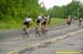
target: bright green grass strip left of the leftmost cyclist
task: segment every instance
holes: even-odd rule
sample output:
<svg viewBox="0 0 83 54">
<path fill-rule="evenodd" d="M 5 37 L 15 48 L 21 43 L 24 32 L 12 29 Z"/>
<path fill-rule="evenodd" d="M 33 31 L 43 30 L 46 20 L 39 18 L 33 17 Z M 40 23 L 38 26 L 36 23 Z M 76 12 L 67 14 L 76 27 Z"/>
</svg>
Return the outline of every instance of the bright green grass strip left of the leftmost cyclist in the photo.
<svg viewBox="0 0 83 54">
<path fill-rule="evenodd" d="M 9 22 L 0 22 L 0 29 L 20 29 L 22 28 L 22 22 L 9 21 Z"/>
</svg>

